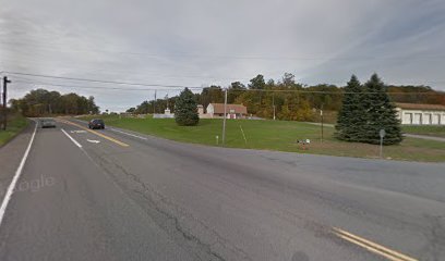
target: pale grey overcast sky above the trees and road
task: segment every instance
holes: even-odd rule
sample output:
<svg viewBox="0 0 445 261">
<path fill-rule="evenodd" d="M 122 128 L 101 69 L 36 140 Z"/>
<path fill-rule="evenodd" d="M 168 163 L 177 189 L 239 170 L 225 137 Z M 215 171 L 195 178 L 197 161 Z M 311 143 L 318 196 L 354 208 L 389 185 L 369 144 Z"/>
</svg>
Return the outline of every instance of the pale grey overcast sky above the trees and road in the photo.
<svg viewBox="0 0 445 261">
<path fill-rule="evenodd" d="M 445 90 L 443 0 L 0 0 L 0 71 L 159 85 L 227 86 L 256 74 Z M 36 84 L 141 88 L 8 74 Z M 154 91 L 46 86 L 123 111 Z M 153 87 L 161 88 L 161 87 Z M 177 91 L 158 91 L 158 97 Z"/>
</svg>

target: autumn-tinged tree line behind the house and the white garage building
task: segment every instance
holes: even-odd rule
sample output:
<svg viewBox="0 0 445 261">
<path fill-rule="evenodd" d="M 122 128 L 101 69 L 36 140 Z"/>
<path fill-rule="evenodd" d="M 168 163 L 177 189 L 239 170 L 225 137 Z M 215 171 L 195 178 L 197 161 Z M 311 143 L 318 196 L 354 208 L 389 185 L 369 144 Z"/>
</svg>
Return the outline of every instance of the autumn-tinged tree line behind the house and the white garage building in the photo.
<svg viewBox="0 0 445 261">
<path fill-rule="evenodd" d="M 394 102 L 408 103 L 435 103 L 445 105 L 445 94 L 435 91 L 429 86 L 386 86 L 389 98 Z M 265 80 L 258 74 L 245 86 L 233 82 L 228 88 L 228 103 L 244 104 L 250 114 L 278 120 L 313 121 L 317 117 L 320 109 L 338 112 L 346 87 L 321 84 L 306 86 L 296 83 L 294 75 L 285 73 L 280 80 Z M 410 94 L 402 94 L 410 92 Z M 416 94 L 412 94 L 416 92 Z M 224 88 L 212 85 L 194 94 L 195 101 L 204 108 L 211 102 L 224 102 Z M 130 113 L 163 113 L 167 105 L 175 110 L 178 97 L 146 100 L 135 108 L 128 110 Z"/>
</svg>

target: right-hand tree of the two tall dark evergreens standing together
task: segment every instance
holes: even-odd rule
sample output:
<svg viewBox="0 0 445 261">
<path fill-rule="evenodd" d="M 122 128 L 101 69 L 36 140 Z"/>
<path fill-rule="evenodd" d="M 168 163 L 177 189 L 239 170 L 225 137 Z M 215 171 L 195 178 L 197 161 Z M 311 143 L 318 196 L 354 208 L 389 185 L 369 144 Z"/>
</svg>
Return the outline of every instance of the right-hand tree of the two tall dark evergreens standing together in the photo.
<svg viewBox="0 0 445 261">
<path fill-rule="evenodd" d="M 402 140 L 400 121 L 397 111 L 390 101 L 385 84 L 377 74 L 373 74 L 364 85 L 366 95 L 366 124 L 363 133 L 363 142 L 380 144 L 380 129 L 385 129 L 384 145 L 399 144 Z"/>
</svg>

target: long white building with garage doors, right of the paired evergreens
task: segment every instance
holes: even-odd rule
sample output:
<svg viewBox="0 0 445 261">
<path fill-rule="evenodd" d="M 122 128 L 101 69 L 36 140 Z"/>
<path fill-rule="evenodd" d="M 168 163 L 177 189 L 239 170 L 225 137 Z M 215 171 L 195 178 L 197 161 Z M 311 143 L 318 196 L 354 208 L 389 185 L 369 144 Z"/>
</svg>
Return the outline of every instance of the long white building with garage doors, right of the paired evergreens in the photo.
<svg viewBox="0 0 445 261">
<path fill-rule="evenodd" d="M 396 103 L 404 125 L 445 125 L 445 105 Z"/>
</svg>

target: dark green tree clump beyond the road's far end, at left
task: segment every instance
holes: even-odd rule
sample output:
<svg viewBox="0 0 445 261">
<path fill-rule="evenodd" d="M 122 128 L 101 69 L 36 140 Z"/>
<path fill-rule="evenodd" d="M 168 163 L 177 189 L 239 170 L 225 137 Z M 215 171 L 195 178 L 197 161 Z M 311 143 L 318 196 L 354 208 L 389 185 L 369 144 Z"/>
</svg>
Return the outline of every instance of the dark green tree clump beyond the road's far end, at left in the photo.
<svg viewBox="0 0 445 261">
<path fill-rule="evenodd" d="M 12 111 L 19 111 L 25 116 L 99 113 L 93 96 L 86 98 L 74 92 L 61 95 L 58 91 L 35 89 L 23 98 L 11 99 L 9 102 Z"/>
</svg>

